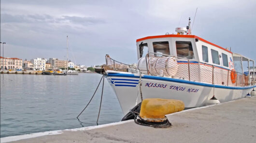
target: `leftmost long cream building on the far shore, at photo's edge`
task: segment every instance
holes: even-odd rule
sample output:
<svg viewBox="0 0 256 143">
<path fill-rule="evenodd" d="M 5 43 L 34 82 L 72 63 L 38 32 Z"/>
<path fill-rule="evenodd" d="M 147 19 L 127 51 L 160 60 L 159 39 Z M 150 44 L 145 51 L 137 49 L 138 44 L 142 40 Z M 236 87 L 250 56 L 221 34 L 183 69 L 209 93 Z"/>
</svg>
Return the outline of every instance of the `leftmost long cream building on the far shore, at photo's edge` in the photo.
<svg viewBox="0 0 256 143">
<path fill-rule="evenodd" d="M 22 59 L 0 57 L 0 68 L 6 70 L 22 69 Z"/>
</svg>

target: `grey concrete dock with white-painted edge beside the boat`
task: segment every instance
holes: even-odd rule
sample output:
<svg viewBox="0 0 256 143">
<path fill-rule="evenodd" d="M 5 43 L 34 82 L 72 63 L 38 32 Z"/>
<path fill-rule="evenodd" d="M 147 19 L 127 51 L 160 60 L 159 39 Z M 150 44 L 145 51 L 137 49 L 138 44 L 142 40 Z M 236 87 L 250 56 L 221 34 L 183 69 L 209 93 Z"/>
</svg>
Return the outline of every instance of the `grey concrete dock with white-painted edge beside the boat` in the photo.
<svg viewBox="0 0 256 143">
<path fill-rule="evenodd" d="M 171 128 L 167 129 L 140 126 L 129 120 L 95 127 L 49 131 L 42 136 L 35 133 L 5 137 L 1 138 L 1 142 L 256 143 L 256 96 L 188 109 L 167 117 L 172 123 Z"/>
</svg>

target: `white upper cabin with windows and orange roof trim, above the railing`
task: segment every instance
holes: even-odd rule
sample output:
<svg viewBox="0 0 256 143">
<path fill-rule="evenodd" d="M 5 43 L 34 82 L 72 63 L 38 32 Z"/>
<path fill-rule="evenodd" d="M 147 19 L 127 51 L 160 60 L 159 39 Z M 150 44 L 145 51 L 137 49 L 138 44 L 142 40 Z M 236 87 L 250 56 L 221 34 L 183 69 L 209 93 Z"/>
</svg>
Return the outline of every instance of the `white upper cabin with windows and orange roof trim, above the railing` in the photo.
<svg viewBox="0 0 256 143">
<path fill-rule="evenodd" d="M 213 64 L 229 70 L 234 69 L 232 52 L 198 36 L 163 35 L 137 39 L 138 60 L 147 53 L 154 57 L 171 55 L 178 58 Z M 162 55 L 164 54 L 164 55 Z"/>
</svg>

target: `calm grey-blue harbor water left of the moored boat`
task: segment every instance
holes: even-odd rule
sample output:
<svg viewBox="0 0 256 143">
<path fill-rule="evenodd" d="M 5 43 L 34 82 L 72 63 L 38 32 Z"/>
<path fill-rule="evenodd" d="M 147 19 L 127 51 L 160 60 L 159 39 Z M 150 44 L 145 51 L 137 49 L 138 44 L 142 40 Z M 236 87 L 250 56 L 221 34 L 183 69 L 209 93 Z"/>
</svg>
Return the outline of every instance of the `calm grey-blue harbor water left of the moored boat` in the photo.
<svg viewBox="0 0 256 143">
<path fill-rule="evenodd" d="M 101 75 L 0 74 L 0 137 L 96 125 L 102 84 L 90 105 Z M 105 80 L 99 124 L 123 117 L 114 90 Z"/>
</svg>

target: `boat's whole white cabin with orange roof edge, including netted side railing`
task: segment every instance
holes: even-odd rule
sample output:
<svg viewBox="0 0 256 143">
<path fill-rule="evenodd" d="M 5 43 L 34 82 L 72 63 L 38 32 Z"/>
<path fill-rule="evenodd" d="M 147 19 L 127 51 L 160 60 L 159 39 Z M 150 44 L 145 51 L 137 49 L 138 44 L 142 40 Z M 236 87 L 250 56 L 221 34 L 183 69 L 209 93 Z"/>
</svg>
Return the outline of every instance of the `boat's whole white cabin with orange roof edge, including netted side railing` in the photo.
<svg viewBox="0 0 256 143">
<path fill-rule="evenodd" d="M 244 74 L 250 60 L 194 35 L 137 39 L 138 67 L 144 74 L 226 86 L 255 81 Z M 147 58 L 146 58 L 147 57 Z"/>
</svg>

